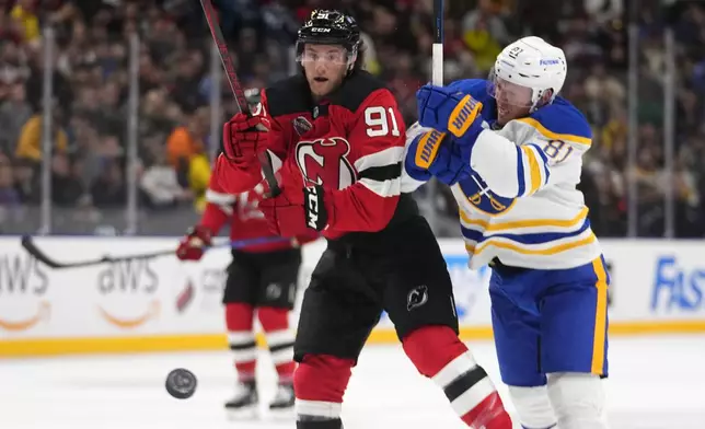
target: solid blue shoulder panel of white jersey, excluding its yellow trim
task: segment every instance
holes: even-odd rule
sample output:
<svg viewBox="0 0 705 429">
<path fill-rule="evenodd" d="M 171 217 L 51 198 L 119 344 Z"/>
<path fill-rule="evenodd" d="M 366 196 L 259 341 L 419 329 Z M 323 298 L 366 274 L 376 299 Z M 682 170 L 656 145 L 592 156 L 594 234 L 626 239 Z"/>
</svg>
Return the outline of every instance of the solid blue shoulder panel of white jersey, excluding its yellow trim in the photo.
<svg viewBox="0 0 705 429">
<path fill-rule="evenodd" d="M 529 117 L 548 131 L 592 139 L 592 129 L 582 112 L 560 96 L 557 96 L 552 104 L 539 108 Z"/>
</svg>

